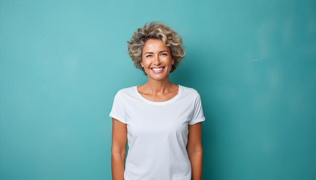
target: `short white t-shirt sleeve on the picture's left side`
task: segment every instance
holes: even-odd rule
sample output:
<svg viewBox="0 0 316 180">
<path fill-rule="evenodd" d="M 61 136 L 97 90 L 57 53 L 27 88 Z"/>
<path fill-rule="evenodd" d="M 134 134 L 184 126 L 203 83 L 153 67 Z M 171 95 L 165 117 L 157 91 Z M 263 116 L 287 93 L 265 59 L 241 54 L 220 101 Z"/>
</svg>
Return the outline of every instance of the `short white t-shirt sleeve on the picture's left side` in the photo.
<svg viewBox="0 0 316 180">
<path fill-rule="evenodd" d="M 123 109 L 123 104 L 122 104 L 120 92 L 118 92 L 114 97 L 112 110 L 111 110 L 109 116 L 121 121 L 124 124 L 126 124 L 126 119 L 124 116 L 124 109 Z"/>
</svg>

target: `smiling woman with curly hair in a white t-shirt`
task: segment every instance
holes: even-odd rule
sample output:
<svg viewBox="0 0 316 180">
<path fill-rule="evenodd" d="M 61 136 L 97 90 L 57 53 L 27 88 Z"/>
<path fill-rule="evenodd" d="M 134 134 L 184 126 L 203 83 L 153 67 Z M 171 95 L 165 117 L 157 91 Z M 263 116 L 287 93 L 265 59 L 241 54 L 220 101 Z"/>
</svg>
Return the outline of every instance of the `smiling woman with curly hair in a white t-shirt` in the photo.
<svg viewBox="0 0 316 180">
<path fill-rule="evenodd" d="M 182 38 L 162 23 L 147 23 L 133 34 L 128 52 L 148 81 L 115 95 L 110 113 L 112 178 L 200 180 L 205 120 L 200 95 L 169 81 L 169 72 L 184 59 Z"/>
</svg>

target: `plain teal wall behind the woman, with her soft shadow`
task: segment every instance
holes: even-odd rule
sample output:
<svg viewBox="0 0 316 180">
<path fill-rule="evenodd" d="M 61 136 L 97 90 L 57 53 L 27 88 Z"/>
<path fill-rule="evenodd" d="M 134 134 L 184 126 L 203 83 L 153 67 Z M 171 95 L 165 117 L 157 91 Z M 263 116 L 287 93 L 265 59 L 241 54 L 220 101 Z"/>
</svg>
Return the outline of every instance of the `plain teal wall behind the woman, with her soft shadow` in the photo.
<svg viewBox="0 0 316 180">
<path fill-rule="evenodd" d="M 0 1 L 0 179 L 111 179 L 127 42 L 183 37 L 170 80 L 201 96 L 202 179 L 316 179 L 315 1 Z"/>
</svg>

